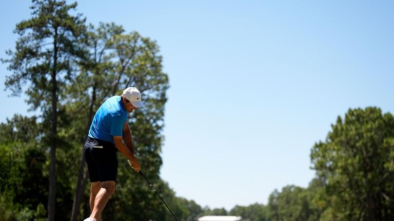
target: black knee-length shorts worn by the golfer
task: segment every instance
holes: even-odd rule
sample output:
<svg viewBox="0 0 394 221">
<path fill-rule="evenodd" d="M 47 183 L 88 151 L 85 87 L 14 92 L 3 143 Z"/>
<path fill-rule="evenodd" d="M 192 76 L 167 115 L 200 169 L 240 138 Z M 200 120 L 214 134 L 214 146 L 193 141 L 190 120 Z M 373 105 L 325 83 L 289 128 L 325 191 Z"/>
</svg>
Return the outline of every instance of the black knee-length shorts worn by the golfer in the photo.
<svg viewBox="0 0 394 221">
<path fill-rule="evenodd" d="M 112 142 L 88 137 L 84 155 L 88 164 L 90 182 L 116 181 L 117 149 Z"/>
</svg>

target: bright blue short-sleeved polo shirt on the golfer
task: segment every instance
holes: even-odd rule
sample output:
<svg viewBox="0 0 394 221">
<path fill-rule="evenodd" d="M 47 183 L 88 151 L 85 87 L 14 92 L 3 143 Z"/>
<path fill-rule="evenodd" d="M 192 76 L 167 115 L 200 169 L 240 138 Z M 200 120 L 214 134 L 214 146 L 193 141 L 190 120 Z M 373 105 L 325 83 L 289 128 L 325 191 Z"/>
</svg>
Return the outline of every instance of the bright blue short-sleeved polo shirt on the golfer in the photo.
<svg viewBox="0 0 394 221">
<path fill-rule="evenodd" d="M 122 97 L 110 97 L 94 115 L 88 136 L 114 143 L 113 136 L 122 136 L 126 120 L 127 111 L 123 106 Z"/>
</svg>

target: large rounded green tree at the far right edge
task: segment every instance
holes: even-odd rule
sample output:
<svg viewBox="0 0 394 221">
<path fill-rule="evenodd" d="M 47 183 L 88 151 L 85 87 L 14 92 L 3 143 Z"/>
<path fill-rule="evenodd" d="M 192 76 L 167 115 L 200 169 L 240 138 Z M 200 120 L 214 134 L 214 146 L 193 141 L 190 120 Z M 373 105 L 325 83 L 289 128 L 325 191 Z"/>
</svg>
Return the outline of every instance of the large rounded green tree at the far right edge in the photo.
<svg viewBox="0 0 394 221">
<path fill-rule="evenodd" d="M 391 220 L 394 216 L 394 117 L 381 109 L 349 109 L 311 151 L 325 182 L 323 219 Z"/>
</svg>

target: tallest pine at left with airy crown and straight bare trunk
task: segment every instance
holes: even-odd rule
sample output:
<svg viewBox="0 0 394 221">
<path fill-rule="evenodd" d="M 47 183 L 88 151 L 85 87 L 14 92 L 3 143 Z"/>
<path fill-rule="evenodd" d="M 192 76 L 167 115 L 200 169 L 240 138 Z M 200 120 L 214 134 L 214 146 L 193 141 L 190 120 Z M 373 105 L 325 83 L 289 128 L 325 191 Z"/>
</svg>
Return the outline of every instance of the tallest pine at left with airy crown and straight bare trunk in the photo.
<svg viewBox="0 0 394 221">
<path fill-rule="evenodd" d="M 7 88 L 18 95 L 28 81 L 28 103 L 32 109 L 40 107 L 44 121 L 51 123 L 51 130 L 46 133 L 51 159 L 48 197 L 51 221 L 55 218 L 58 90 L 70 77 L 73 59 L 84 54 L 78 47 L 78 38 L 83 36 L 85 20 L 80 14 L 68 13 L 75 7 L 76 3 L 67 5 L 66 1 L 33 0 L 32 18 L 16 25 L 15 32 L 20 35 L 16 51 L 8 51 L 11 58 L 3 61 L 14 72 L 7 77 Z"/>
</svg>

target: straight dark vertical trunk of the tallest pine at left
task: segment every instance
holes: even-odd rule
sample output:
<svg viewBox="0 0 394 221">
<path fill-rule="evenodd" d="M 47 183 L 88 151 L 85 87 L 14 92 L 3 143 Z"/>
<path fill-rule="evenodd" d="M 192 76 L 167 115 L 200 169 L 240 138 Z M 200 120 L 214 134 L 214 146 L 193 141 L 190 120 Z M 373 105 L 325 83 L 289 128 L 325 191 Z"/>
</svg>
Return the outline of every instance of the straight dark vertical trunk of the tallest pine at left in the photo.
<svg viewBox="0 0 394 221">
<path fill-rule="evenodd" d="M 52 69 L 52 131 L 51 131 L 51 169 L 49 173 L 49 197 L 48 197 L 48 220 L 55 219 L 55 202 L 56 202 L 56 138 L 57 138 L 57 81 L 56 81 L 56 64 L 57 64 L 57 28 L 53 41 L 53 69 Z"/>
</svg>

